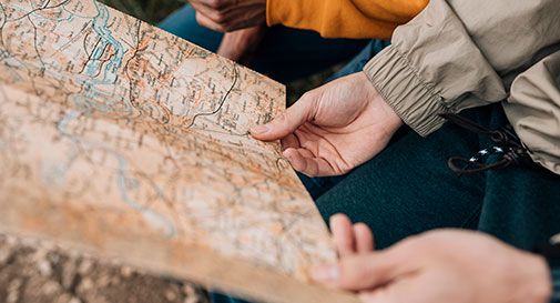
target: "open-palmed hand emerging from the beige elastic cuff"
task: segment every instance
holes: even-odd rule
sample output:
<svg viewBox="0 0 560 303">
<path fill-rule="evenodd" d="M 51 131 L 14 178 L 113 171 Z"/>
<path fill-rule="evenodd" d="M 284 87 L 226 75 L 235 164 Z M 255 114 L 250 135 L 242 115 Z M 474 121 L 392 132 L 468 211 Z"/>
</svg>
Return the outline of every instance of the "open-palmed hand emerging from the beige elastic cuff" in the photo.
<svg viewBox="0 0 560 303">
<path fill-rule="evenodd" d="M 339 175 L 374 158 L 403 125 L 366 74 L 358 72 L 309 91 L 251 134 L 281 140 L 284 156 L 309 176 Z"/>
</svg>

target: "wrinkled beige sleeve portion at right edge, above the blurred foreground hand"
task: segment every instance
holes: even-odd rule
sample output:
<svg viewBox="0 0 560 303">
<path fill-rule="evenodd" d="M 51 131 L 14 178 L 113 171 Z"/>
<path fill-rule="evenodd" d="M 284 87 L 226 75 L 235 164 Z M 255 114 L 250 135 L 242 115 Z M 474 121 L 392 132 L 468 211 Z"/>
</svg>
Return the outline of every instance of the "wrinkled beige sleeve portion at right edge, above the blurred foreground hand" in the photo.
<svg viewBox="0 0 560 303">
<path fill-rule="evenodd" d="M 560 174 L 560 52 L 520 74 L 503 109 L 532 160 Z"/>
</svg>

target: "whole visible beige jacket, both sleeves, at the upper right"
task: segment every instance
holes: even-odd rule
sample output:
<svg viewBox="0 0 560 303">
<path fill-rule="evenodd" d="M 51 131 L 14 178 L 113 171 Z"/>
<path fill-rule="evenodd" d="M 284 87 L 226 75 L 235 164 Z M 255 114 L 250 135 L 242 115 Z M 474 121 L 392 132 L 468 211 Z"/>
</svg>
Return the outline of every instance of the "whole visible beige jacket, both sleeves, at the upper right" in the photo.
<svg viewBox="0 0 560 303">
<path fill-rule="evenodd" d="M 439 112 L 502 102 L 518 135 L 560 174 L 560 0 L 431 0 L 365 67 L 421 135 Z"/>
</svg>

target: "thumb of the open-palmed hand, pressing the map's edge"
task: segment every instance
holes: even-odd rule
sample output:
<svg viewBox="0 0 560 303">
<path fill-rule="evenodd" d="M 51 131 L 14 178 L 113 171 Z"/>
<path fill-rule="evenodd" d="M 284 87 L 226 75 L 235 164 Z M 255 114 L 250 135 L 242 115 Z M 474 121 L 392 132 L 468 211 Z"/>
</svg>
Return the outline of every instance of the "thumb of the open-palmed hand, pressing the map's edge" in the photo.
<svg viewBox="0 0 560 303">
<path fill-rule="evenodd" d="M 254 127 L 251 134 L 262 141 L 274 141 L 293 133 L 315 115 L 316 98 L 304 94 L 294 105 L 277 115 L 273 121 Z"/>
</svg>

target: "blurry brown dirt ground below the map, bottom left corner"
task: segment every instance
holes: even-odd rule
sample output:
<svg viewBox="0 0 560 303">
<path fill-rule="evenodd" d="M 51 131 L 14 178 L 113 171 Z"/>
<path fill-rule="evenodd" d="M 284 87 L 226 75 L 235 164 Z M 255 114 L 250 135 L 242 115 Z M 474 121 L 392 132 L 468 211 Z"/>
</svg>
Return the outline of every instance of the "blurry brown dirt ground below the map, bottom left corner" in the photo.
<svg viewBox="0 0 560 303">
<path fill-rule="evenodd" d="M 0 234 L 0 303 L 203 303 L 189 282 Z"/>
</svg>

